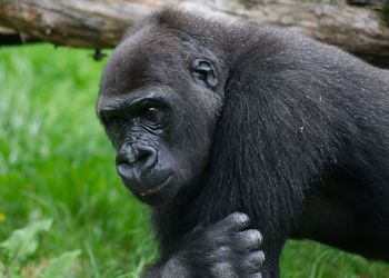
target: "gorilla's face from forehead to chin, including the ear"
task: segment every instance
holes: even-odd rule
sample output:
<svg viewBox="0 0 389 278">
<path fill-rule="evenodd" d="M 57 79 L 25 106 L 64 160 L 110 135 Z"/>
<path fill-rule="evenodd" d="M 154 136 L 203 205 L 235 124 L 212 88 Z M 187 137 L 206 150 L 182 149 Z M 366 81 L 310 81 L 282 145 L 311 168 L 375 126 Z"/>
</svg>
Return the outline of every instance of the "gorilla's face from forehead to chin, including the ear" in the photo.
<svg viewBox="0 0 389 278">
<path fill-rule="evenodd" d="M 194 188 L 207 166 L 222 103 L 217 64 L 170 34 L 142 30 L 113 52 L 98 116 L 117 150 L 123 183 L 161 205 Z M 190 53 L 190 54 L 189 54 Z"/>
</svg>

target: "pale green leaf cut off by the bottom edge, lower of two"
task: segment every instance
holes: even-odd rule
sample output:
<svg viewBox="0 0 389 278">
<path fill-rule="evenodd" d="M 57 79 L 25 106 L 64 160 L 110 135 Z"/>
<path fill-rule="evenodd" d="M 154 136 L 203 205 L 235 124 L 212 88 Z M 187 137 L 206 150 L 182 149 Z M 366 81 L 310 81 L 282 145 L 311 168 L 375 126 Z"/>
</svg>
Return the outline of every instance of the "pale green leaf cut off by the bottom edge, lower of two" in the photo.
<svg viewBox="0 0 389 278">
<path fill-rule="evenodd" d="M 42 278 L 74 277 L 74 262 L 81 250 L 64 252 L 50 260 L 50 264 L 41 272 Z"/>
</svg>

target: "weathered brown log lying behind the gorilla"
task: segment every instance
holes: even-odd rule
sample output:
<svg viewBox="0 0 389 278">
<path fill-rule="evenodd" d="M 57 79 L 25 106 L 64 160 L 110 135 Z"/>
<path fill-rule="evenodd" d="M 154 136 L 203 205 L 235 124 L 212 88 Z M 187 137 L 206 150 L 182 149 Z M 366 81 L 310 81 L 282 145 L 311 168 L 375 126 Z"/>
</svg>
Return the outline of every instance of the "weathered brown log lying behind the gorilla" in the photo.
<svg viewBox="0 0 389 278">
<path fill-rule="evenodd" d="M 0 26 L 56 44 L 112 48 L 162 0 L 0 0 Z M 372 8 L 345 0 L 174 1 L 210 16 L 297 29 L 375 63 L 389 66 L 389 28 Z M 1 42 L 0 42 L 1 43 Z"/>
</svg>

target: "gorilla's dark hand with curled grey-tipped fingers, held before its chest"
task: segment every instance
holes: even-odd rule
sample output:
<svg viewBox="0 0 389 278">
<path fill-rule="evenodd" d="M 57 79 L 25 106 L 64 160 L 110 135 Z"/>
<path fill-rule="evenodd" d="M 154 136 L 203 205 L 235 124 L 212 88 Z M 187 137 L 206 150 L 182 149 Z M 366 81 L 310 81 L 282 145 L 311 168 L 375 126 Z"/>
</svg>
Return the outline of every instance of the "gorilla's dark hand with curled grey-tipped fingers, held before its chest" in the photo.
<svg viewBox="0 0 389 278">
<path fill-rule="evenodd" d="M 209 227 L 196 228 L 146 277 L 260 277 L 262 236 L 248 229 L 249 224 L 247 215 L 235 212 Z"/>
</svg>

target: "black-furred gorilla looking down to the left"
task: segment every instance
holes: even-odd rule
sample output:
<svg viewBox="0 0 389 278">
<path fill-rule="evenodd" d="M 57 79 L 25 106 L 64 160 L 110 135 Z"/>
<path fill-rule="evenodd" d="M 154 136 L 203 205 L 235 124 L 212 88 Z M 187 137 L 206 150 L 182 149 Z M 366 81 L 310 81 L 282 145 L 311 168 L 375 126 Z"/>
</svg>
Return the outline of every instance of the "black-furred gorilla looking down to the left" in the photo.
<svg viewBox="0 0 389 278">
<path fill-rule="evenodd" d="M 97 113 L 151 208 L 160 259 L 144 277 L 279 277 L 288 238 L 389 260 L 388 71 L 164 8 L 113 51 Z"/>
</svg>

